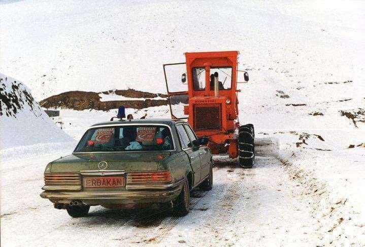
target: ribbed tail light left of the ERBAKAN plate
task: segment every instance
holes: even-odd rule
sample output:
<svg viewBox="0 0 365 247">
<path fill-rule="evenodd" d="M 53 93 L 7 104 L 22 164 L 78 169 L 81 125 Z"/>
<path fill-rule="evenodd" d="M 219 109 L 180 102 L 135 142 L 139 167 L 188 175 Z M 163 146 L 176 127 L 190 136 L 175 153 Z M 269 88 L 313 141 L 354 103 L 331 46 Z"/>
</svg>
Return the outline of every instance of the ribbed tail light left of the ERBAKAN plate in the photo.
<svg viewBox="0 0 365 247">
<path fill-rule="evenodd" d="M 45 173 L 45 185 L 81 185 L 81 175 L 78 173 Z"/>
</svg>

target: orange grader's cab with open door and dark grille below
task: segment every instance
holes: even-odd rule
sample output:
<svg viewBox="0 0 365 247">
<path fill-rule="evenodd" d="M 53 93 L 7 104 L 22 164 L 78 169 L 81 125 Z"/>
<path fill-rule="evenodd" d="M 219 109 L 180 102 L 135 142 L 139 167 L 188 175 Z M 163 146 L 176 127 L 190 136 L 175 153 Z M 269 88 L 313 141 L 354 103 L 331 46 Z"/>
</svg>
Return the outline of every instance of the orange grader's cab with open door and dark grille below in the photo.
<svg viewBox="0 0 365 247">
<path fill-rule="evenodd" d="M 238 115 L 237 79 L 241 75 L 248 80 L 247 72 L 237 70 L 238 54 L 185 53 L 186 63 L 164 64 L 172 117 L 188 119 L 198 136 L 233 131 Z"/>
</svg>

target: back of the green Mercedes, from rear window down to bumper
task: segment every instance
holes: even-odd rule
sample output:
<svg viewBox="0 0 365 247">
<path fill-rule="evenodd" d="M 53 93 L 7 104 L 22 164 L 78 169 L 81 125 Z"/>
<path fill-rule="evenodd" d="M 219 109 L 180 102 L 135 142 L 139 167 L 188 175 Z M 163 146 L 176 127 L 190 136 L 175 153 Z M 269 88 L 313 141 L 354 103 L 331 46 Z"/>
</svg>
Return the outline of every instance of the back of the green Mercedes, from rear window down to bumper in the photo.
<svg viewBox="0 0 365 247">
<path fill-rule="evenodd" d="M 48 164 L 41 197 L 51 200 L 57 209 L 75 205 L 130 208 L 171 202 L 184 182 L 169 170 L 175 147 L 168 125 L 93 127 L 72 155 Z"/>
</svg>

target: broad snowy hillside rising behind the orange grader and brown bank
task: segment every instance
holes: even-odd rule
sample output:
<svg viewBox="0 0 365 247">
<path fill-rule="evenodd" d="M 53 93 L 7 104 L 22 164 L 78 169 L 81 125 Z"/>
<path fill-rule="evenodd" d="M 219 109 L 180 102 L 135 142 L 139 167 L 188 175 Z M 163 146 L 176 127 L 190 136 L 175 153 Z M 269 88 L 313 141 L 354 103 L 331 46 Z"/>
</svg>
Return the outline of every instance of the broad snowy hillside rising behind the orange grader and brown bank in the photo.
<svg viewBox="0 0 365 247">
<path fill-rule="evenodd" d="M 161 93 L 162 64 L 193 51 L 240 51 L 253 88 L 353 80 L 360 89 L 365 78 L 360 1 L 6 3 L 1 69 L 38 101 L 75 90 Z"/>
</svg>

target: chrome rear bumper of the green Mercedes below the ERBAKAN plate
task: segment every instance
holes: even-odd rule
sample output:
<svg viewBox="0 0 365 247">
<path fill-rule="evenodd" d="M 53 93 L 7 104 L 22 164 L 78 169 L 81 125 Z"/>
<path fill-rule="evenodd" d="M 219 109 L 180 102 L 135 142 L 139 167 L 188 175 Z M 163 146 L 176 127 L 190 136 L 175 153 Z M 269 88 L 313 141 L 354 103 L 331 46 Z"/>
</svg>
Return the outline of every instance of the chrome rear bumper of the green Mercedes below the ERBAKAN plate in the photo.
<svg viewBox="0 0 365 247">
<path fill-rule="evenodd" d="M 86 204 L 165 203 L 180 194 L 183 182 L 184 180 L 165 185 L 127 185 L 125 190 L 46 190 L 41 193 L 41 197 L 53 203 L 69 203 L 72 200 L 80 200 Z"/>
</svg>

